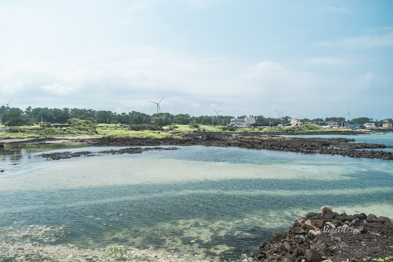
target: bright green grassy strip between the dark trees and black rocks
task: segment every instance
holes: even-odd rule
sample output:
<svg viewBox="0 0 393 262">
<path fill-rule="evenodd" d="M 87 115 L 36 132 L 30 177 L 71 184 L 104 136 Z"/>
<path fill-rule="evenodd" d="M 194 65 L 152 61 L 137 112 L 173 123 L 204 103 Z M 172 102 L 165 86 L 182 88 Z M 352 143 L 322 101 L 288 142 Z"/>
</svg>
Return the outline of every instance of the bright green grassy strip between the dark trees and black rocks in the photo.
<svg viewBox="0 0 393 262">
<path fill-rule="evenodd" d="M 146 130 L 145 130 L 146 128 Z M 132 130 L 132 129 L 137 129 Z M 153 129 L 153 130 L 149 130 Z M 30 126 L 18 126 L 10 127 L 10 130 L 0 130 L 0 138 L 39 138 L 39 137 L 75 137 L 75 136 L 90 136 L 90 137 L 141 137 L 141 138 L 163 138 L 171 137 L 178 132 L 222 132 L 222 133 L 275 133 L 275 132 L 318 132 L 318 131 L 329 131 L 339 133 L 341 131 L 348 131 L 350 129 L 326 129 L 316 124 L 306 122 L 302 126 L 295 127 L 273 127 L 273 128 L 227 128 L 225 126 L 203 126 L 192 127 L 190 125 L 167 125 L 158 127 L 145 126 L 145 125 L 134 125 L 134 126 L 122 126 L 119 124 L 97 124 L 92 129 L 78 129 L 76 127 L 67 128 L 46 128 L 40 129 L 38 127 L 32 128 Z M 363 129 L 365 130 L 365 129 Z M 384 130 L 378 129 L 379 132 Z"/>
</svg>

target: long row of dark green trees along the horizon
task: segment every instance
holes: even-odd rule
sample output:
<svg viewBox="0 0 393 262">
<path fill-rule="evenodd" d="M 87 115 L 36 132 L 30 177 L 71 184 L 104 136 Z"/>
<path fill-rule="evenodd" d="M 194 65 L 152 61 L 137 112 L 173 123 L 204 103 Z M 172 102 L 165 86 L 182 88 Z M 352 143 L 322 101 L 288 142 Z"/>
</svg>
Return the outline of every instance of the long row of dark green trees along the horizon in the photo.
<svg viewBox="0 0 393 262">
<path fill-rule="evenodd" d="M 28 107 L 25 110 L 17 107 L 0 107 L 1 120 L 4 125 L 17 126 L 17 125 L 31 125 L 37 124 L 37 122 L 50 122 L 51 124 L 71 124 L 72 119 L 88 120 L 92 123 L 99 124 L 124 124 L 124 125 L 140 125 L 140 124 L 151 124 L 151 125 L 172 125 L 172 124 L 200 124 L 200 125 L 227 125 L 230 124 L 231 118 L 235 116 L 191 116 L 189 114 L 170 114 L 170 113 L 159 113 L 159 114 L 145 114 L 137 111 L 131 111 L 129 113 L 116 113 L 112 111 L 93 109 L 78 109 L 78 108 L 48 108 L 48 107 Z M 280 123 L 285 124 L 290 122 L 290 116 L 283 116 L 281 118 L 269 118 L 263 115 L 259 116 L 237 116 L 236 118 L 244 117 L 255 117 L 255 123 Z M 301 122 L 324 122 L 322 119 L 314 118 L 301 119 Z M 325 118 L 325 121 L 336 121 L 338 123 L 347 122 L 343 117 L 330 117 Z M 349 121 L 349 124 L 364 124 L 364 123 L 376 123 L 383 124 L 393 120 L 387 118 L 384 120 L 373 120 L 373 118 L 355 118 Z"/>
</svg>

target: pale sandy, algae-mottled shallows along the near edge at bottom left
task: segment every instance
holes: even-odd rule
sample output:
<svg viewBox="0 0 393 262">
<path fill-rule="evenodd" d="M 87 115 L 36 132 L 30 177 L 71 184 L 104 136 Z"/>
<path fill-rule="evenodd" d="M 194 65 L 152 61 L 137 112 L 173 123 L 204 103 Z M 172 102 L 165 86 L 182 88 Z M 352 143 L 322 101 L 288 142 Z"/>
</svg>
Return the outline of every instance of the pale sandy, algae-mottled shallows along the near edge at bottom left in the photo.
<svg viewBox="0 0 393 262">
<path fill-rule="evenodd" d="M 153 247 L 138 249 L 125 245 L 107 245 L 97 248 L 81 248 L 72 244 L 56 244 L 68 231 L 64 226 L 14 225 L 0 228 L 0 261 L 20 262 L 208 262 L 197 254 L 178 254 L 174 250 L 155 250 Z M 251 261 L 243 254 L 243 262 Z"/>
</svg>

